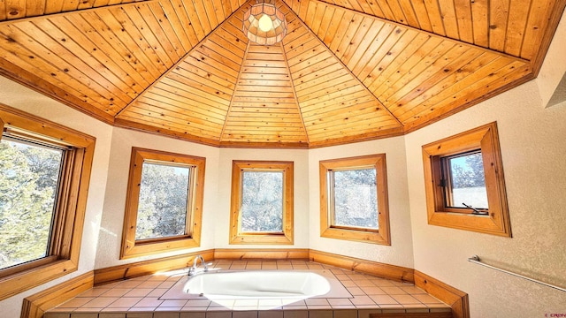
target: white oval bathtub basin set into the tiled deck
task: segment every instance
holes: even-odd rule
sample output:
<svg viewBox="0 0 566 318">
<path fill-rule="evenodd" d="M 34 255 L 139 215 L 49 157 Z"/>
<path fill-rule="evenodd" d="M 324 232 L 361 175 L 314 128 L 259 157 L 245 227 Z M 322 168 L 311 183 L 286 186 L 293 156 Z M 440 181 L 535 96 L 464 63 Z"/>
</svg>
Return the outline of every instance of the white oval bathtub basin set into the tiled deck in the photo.
<svg viewBox="0 0 566 318">
<path fill-rule="evenodd" d="M 212 272 L 190 277 L 182 291 L 216 299 L 306 299 L 330 292 L 317 273 L 291 270 Z"/>
</svg>

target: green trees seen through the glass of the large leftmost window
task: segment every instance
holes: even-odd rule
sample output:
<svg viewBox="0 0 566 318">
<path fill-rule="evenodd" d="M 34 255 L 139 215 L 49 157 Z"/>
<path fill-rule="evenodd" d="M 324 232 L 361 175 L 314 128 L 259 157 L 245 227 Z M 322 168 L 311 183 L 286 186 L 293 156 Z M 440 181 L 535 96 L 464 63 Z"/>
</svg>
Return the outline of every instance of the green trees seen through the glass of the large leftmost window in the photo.
<svg viewBox="0 0 566 318">
<path fill-rule="evenodd" d="M 63 150 L 0 141 L 0 269 L 50 253 Z"/>
</svg>

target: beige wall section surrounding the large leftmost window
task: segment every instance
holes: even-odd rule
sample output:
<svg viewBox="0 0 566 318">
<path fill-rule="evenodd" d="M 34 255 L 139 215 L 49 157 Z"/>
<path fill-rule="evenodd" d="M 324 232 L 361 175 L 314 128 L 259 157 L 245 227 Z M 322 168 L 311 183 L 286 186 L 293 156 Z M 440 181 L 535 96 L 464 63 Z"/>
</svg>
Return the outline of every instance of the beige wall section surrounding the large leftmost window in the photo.
<svg viewBox="0 0 566 318">
<path fill-rule="evenodd" d="M 48 284 L 42 284 L 9 299 L 0 301 L 0 317 L 16 318 L 19 317 L 22 300 L 28 295 L 40 292 L 50 286 L 60 284 L 69 278 L 80 276 L 94 269 L 98 229 L 103 216 L 104 189 L 110 157 L 112 127 L 4 77 L 0 77 L 0 102 L 96 137 L 95 157 L 88 189 L 87 211 L 80 247 L 79 269 Z"/>
</svg>

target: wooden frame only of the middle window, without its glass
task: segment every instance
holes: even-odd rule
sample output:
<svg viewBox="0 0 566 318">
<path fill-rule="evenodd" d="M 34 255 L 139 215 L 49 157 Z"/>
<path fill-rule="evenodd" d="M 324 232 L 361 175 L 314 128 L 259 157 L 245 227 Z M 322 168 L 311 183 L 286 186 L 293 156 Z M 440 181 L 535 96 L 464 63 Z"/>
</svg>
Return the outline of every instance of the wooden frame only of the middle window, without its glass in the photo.
<svg viewBox="0 0 566 318">
<path fill-rule="evenodd" d="M 241 193 L 244 171 L 283 172 L 283 232 L 249 233 L 241 229 Z M 230 213 L 230 244 L 292 245 L 294 244 L 293 223 L 294 163 L 272 161 L 238 161 L 232 163 L 232 199 Z"/>
</svg>

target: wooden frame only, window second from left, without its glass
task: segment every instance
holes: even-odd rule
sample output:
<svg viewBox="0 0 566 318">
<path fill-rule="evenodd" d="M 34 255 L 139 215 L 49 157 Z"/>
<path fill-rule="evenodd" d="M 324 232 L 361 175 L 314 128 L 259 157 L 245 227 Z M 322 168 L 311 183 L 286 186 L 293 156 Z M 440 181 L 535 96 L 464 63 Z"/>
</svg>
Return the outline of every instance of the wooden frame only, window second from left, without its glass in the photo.
<svg viewBox="0 0 566 318">
<path fill-rule="evenodd" d="M 189 187 L 193 192 L 188 193 L 189 201 L 191 202 L 187 204 L 187 209 L 190 209 L 187 211 L 190 214 L 187 216 L 187 220 L 190 220 L 190 222 L 187 222 L 188 230 L 185 235 L 157 239 L 135 239 L 144 161 L 195 167 L 195 176 L 189 179 Z M 199 156 L 173 154 L 145 148 L 132 148 L 120 260 L 201 246 L 205 164 L 206 158 Z"/>
</svg>

